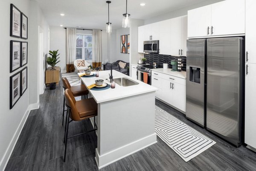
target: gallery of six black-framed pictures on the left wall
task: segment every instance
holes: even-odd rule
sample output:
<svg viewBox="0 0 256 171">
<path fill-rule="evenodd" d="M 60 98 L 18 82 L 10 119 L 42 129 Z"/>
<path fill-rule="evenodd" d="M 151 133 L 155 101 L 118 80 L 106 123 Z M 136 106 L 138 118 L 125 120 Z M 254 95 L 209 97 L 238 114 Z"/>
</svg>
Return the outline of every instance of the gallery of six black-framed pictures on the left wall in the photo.
<svg viewBox="0 0 256 171">
<path fill-rule="evenodd" d="M 10 8 L 10 36 L 28 39 L 28 17 L 15 5 Z M 28 87 L 28 42 L 10 41 L 10 72 L 20 71 L 10 76 L 10 109 L 14 107 Z"/>
</svg>

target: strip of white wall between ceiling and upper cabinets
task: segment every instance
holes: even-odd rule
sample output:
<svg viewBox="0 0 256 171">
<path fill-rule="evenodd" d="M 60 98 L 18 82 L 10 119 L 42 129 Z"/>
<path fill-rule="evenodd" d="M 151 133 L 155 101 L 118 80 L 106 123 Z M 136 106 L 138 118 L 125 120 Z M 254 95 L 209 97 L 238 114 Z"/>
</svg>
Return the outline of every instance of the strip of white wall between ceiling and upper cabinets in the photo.
<svg viewBox="0 0 256 171">
<path fill-rule="evenodd" d="M 199 7 L 202 7 L 202 6 L 207 6 L 207 5 L 210 5 L 212 3 L 218 3 L 220 1 L 223 1 L 223 0 L 206 0 L 202 3 L 197 3 L 195 5 L 188 6 L 186 8 L 177 9 L 175 11 L 172 11 L 172 12 L 169 12 L 169 13 L 166 13 L 166 14 L 162 14 L 162 15 L 158 15 L 156 17 L 148 18 L 148 19 L 145 20 L 144 24 L 156 23 L 158 21 L 168 20 L 168 19 L 171 19 L 171 18 L 187 15 L 188 10 L 199 8 Z"/>
</svg>

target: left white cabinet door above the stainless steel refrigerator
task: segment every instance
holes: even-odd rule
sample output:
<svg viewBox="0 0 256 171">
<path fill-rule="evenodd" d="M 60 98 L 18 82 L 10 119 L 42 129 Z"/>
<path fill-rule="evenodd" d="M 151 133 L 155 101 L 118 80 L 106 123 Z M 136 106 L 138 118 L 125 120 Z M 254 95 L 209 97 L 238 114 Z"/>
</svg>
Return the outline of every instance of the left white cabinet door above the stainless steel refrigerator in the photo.
<svg viewBox="0 0 256 171">
<path fill-rule="evenodd" d="M 210 34 L 212 6 L 203 6 L 188 11 L 188 37 Z"/>
</svg>

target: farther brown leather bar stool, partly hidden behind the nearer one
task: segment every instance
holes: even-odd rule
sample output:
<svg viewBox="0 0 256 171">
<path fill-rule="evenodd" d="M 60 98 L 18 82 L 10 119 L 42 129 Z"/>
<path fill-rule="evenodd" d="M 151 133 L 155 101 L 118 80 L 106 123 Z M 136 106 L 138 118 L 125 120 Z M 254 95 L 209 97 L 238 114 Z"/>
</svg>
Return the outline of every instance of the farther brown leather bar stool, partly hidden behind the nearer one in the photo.
<svg viewBox="0 0 256 171">
<path fill-rule="evenodd" d="M 62 78 L 62 83 L 63 83 L 63 88 L 64 90 L 70 89 L 71 92 L 73 93 L 73 96 L 84 96 L 84 99 L 88 99 L 88 89 L 85 87 L 84 84 L 82 85 L 77 85 L 77 86 L 70 86 L 68 80 L 66 77 Z M 65 98 L 63 98 L 63 111 L 62 111 L 62 125 L 64 122 L 64 112 L 67 111 L 65 110 Z"/>
</svg>

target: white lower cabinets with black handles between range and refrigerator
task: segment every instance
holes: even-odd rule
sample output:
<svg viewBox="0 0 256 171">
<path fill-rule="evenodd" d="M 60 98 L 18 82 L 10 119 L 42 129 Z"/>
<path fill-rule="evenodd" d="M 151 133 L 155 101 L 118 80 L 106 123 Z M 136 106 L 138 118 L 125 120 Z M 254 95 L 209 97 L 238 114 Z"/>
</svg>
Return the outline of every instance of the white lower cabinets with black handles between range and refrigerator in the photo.
<svg viewBox="0 0 256 171">
<path fill-rule="evenodd" d="M 157 76 L 155 76 L 157 75 Z M 186 80 L 152 71 L 151 85 L 158 88 L 156 97 L 186 112 Z"/>
</svg>

